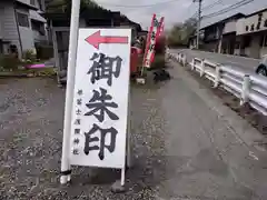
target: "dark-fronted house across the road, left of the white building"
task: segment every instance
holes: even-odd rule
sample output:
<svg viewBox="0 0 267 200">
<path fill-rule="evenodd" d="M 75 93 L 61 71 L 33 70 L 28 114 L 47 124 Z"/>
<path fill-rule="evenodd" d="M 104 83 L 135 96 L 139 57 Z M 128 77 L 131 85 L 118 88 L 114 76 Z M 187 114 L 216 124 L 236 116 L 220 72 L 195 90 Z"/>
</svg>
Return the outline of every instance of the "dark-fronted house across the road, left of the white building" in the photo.
<svg viewBox="0 0 267 200">
<path fill-rule="evenodd" d="M 204 31 L 202 48 L 212 52 L 234 54 L 236 23 L 238 19 L 244 17 L 244 13 L 236 13 L 226 19 L 202 27 L 200 29 Z"/>
</svg>

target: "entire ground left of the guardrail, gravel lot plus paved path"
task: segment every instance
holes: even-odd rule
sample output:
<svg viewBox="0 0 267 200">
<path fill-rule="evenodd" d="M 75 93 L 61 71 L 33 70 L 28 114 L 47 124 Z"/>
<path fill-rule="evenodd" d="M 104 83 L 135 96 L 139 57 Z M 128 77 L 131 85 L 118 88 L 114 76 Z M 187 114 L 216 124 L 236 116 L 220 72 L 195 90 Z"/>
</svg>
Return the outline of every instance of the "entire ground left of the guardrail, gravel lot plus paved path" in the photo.
<svg viewBox="0 0 267 200">
<path fill-rule="evenodd" d="M 174 63 L 172 63 L 174 64 Z M 175 66 L 172 79 L 131 84 L 134 168 L 73 167 L 59 184 L 65 89 L 52 79 L 0 79 L 0 199 L 266 200 L 264 138 Z"/>
</svg>

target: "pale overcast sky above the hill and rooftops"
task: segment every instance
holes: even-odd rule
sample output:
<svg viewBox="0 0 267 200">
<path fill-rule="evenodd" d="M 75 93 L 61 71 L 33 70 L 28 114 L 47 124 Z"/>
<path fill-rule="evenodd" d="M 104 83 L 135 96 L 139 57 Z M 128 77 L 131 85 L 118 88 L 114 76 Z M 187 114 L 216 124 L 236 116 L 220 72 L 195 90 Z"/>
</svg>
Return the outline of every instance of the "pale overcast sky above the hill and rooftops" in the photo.
<svg viewBox="0 0 267 200">
<path fill-rule="evenodd" d="M 220 0 L 220 3 L 205 9 L 205 7 L 217 1 L 218 0 L 202 0 L 204 14 L 216 12 L 240 0 Z M 96 0 L 96 2 L 109 10 L 120 11 L 132 21 L 140 23 L 142 29 L 147 29 L 150 26 L 154 13 L 165 17 L 166 28 L 170 28 L 172 24 L 182 22 L 194 16 L 198 8 L 198 3 L 192 3 L 192 0 Z M 254 0 L 238 9 L 202 20 L 201 26 L 216 22 L 237 12 L 244 12 L 246 14 L 264 8 L 267 8 L 267 0 Z"/>
</svg>

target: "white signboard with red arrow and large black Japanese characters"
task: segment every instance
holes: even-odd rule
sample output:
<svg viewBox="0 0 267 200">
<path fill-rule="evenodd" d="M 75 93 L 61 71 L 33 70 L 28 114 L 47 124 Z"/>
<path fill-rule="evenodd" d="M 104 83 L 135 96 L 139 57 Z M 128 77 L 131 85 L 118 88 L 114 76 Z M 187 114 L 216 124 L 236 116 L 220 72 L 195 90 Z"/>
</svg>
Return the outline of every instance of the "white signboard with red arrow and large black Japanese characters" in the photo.
<svg viewBox="0 0 267 200">
<path fill-rule="evenodd" d="M 130 29 L 80 29 L 70 163 L 125 168 Z"/>
</svg>

